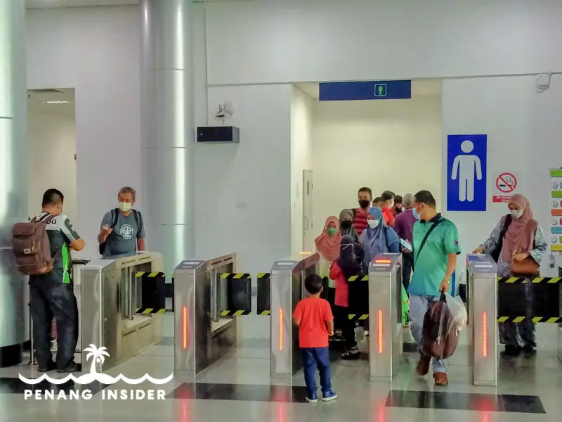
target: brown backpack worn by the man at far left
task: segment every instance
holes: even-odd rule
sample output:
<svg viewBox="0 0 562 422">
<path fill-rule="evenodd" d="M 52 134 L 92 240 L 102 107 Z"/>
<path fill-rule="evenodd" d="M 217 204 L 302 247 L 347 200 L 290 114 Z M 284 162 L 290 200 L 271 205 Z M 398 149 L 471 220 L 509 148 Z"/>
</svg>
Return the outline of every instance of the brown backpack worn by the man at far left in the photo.
<svg viewBox="0 0 562 422">
<path fill-rule="evenodd" d="M 51 243 L 48 241 L 47 224 L 55 215 L 48 214 L 41 219 L 34 217 L 28 223 L 16 223 L 12 229 L 12 249 L 15 264 L 25 276 L 46 274 L 53 269 Z"/>
</svg>

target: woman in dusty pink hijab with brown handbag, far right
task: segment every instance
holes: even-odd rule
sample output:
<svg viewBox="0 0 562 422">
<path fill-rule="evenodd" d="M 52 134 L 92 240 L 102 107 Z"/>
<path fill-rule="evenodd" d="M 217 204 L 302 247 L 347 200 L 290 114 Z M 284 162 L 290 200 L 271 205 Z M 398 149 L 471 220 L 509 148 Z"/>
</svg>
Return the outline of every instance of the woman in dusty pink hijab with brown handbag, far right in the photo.
<svg viewBox="0 0 562 422">
<path fill-rule="evenodd" d="M 512 267 L 522 262 L 535 264 L 538 267 L 545 252 L 547 242 L 539 223 L 532 218 L 532 209 L 525 196 L 517 193 L 511 196 L 509 215 L 504 215 L 490 238 L 478 246 L 473 253 L 497 255 L 497 275 L 511 277 L 514 275 Z M 496 258 L 495 258 L 496 259 Z M 534 268 L 533 265 L 530 267 Z M 526 274 L 532 276 L 534 274 Z M 527 302 L 530 306 L 529 284 L 525 285 Z M 499 324 L 499 340 L 505 345 L 506 354 L 517 355 L 521 350 L 531 352 L 535 343 L 535 324 L 525 319 L 523 322 L 502 322 Z"/>
</svg>

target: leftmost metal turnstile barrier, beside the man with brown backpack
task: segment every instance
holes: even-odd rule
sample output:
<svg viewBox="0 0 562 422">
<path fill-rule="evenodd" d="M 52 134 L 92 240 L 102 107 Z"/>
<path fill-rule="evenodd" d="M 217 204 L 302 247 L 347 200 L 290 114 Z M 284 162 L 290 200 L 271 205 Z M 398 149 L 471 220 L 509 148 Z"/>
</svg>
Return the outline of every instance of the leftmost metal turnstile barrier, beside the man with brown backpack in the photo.
<svg viewBox="0 0 562 422">
<path fill-rule="evenodd" d="M 119 362 L 136 356 L 138 351 L 162 340 L 164 316 L 137 314 L 142 308 L 141 278 L 138 271 L 163 270 L 162 255 L 138 252 L 115 260 L 93 260 L 81 267 L 79 330 L 80 341 L 75 360 L 86 363 L 87 345 L 105 347 L 109 356 L 97 362 L 98 371 L 106 371 Z"/>
</svg>

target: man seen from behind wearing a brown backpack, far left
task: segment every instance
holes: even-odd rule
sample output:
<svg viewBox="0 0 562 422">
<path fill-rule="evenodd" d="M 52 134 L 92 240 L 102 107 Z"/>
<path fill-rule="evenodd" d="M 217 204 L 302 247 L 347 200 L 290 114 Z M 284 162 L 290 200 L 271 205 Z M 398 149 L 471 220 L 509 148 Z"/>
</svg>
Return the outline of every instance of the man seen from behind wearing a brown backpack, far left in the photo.
<svg viewBox="0 0 562 422">
<path fill-rule="evenodd" d="M 84 249 L 84 240 L 63 214 L 64 196 L 57 189 L 43 195 L 43 210 L 30 222 L 15 224 L 15 264 L 30 276 L 30 312 L 40 372 L 77 370 L 78 308 L 72 284 L 70 250 Z M 57 326 L 56 364 L 51 355 L 51 324 Z"/>
</svg>

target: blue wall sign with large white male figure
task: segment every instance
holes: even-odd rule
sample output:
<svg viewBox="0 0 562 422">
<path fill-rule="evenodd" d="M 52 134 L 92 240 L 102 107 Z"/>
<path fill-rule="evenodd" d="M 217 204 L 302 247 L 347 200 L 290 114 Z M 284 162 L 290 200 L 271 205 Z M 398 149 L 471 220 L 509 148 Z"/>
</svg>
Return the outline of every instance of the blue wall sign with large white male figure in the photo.
<svg viewBox="0 0 562 422">
<path fill-rule="evenodd" d="M 487 135 L 447 136 L 447 211 L 486 210 Z"/>
</svg>

